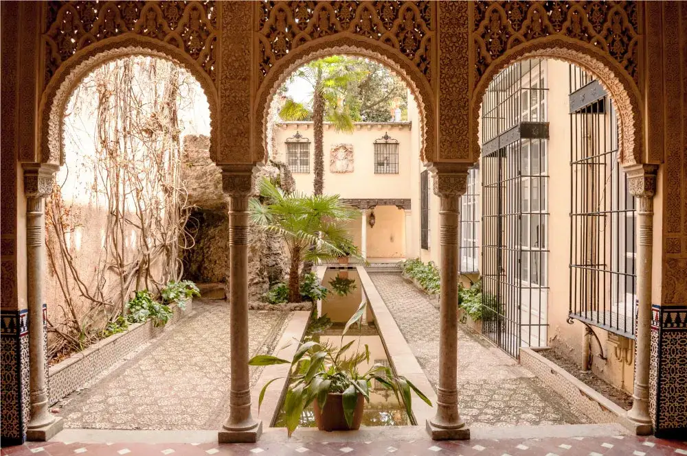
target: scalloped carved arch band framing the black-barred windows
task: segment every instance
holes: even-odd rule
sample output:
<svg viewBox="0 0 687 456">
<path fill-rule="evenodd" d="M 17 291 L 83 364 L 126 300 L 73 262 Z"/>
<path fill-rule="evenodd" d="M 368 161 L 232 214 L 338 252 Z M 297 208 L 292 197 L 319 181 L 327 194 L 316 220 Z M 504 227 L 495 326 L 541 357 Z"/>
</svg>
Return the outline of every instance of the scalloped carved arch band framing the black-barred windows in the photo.
<svg viewBox="0 0 687 456">
<path fill-rule="evenodd" d="M 616 106 L 620 129 L 618 135 L 620 163 L 622 165 L 643 163 L 641 95 L 632 77 L 604 51 L 566 36 L 547 36 L 517 45 L 494 60 L 482 77 L 477 80 L 471 99 L 473 134 L 470 141 L 475 160 L 479 158 L 481 151 L 477 125 L 479 125 L 484 93 L 489 83 L 499 71 L 510 64 L 530 58 L 563 60 L 576 64 L 597 77 L 603 88 L 613 98 Z"/>
</svg>

